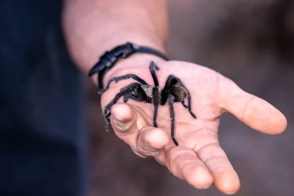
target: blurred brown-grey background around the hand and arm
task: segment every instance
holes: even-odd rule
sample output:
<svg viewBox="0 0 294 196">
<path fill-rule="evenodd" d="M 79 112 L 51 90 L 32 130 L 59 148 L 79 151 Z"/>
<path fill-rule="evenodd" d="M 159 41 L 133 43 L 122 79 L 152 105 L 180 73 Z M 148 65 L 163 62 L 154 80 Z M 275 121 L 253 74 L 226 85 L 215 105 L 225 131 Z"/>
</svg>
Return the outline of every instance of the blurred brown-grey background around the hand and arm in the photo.
<svg viewBox="0 0 294 196">
<path fill-rule="evenodd" d="M 240 175 L 236 196 L 294 196 L 294 1 L 169 0 L 170 58 L 212 68 L 285 114 L 286 131 L 264 135 L 221 116 L 221 147 Z M 222 196 L 196 190 L 152 158 L 105 132 L 97 88 L 88 81 L 89 196 Z"/>
</svg>

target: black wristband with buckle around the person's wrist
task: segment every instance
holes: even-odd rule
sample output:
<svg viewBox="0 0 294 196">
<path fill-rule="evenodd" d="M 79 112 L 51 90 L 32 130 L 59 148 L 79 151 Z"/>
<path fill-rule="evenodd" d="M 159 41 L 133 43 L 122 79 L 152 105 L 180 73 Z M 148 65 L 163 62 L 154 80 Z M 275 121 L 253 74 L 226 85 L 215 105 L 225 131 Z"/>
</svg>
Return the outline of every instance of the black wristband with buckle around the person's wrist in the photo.
<svg viewBox="0 0 294 196">
<path fill-rule="evenodd" d="M 165 60 L 169 60 L 163 53 L 151 49 L 148 47 L 137 46 L 132 43 L 126 43 L 124 45 L 118 46 L 110 51 L 106 51 L 101 57 L 98 63 L 90 70 L 89 76 L 92 76 L 95 73 L 98 73 L 99 87 L 103 89 L 103 76 L 110 70 L 118 60 L 122 58 L 127 58 L 135 52 L 149 53 L 159 56 Z"/>
</svg>

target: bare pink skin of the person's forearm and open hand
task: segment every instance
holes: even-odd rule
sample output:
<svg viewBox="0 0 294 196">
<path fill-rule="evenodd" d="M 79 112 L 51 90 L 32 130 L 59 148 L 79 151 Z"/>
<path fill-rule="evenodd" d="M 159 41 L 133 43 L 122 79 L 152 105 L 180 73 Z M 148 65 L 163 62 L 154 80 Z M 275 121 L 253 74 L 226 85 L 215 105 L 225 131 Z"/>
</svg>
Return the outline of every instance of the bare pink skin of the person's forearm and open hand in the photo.
<svg viewBox="0 0 294 196">
<path fill-rule="evenodd" d="M 64 33 L 69 52 L 78 68 L 87 74 L 106 50 L 126 42 L 165 52 L 168 33 L 165 0 L 67 0 Z M 267 101 L 246 93 L 232 80 L 206 67 L 184 61 L 164 61 L 150 54 L 134 54 L 119 61 L 105 74 L 104 86 L 114 77 L 134 73 L 153 85 L 148 73 L 154 61 L 160 87 L 170 74 L 181 78 L 192 95 L 193 119 L 175 103 L 176 147 L 170 136 L 168 106 L 158 110 L 158 127 L 153 127 L 151 104 L 129 100 L 111 109 L 112 127 L 119 138 L 141 157 L 152 156 L 173 175 L 198 189 L 212 184 L 225 194 L 234 194 L 240 180 L 218 140 L 222 113 L 230 112 L 249 127 L 265 134 L 280 134 L 287 126 L 285 116 Z M 97 83 L 97 75 L 92 77 Z M 102 94 L 101 107 L 131 82 L 111 84 Z M 232 133 L 233 134 L 233 133 Z M 252 160 L 253 162 L 254 160 Z"/>
</svg>

